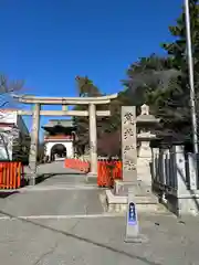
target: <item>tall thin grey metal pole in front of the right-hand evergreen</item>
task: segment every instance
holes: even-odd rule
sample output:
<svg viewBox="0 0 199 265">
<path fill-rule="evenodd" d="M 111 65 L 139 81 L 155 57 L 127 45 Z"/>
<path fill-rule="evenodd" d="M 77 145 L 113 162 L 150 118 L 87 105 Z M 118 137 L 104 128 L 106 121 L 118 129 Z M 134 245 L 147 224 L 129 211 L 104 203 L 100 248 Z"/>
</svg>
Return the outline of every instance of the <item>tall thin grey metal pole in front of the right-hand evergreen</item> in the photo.
<svg viewBox="0 0 199 265">
<path fill-rule="evenodd" d="M 189 0 L 185 0 L 185 13 L 186 13 L 186 31 L 187 31 L 187 56 L 188 56 L 188 66 L 189 66 L 190 105 L 191 105 L 191 119 L 192 119 L 192 132 L 193 132 L 193 150 L 195 150 L 195 153 L 198 153 L 198 129 L 197 129 L 197 115 L 196 115 L 196 102 L 195 102 L 195 77 L 193 77 L 193 63 L 192 63 Z"/>
</svg>

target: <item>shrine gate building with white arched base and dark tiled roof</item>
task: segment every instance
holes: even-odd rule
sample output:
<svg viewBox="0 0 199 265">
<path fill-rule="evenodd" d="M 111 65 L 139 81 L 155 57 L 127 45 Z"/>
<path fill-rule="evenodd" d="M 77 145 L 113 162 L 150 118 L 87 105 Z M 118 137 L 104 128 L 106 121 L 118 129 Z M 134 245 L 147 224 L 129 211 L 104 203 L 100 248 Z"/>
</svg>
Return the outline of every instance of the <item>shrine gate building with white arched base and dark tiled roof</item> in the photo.
<svg viewBox="0 0 199 265">
<path fill-rule="evenodd" d="M 49 160 L 74 157 L 75 128 L 69 119 L 50 119 L 42 126 L 44 132 L 45 156 Z"/>
</svg>

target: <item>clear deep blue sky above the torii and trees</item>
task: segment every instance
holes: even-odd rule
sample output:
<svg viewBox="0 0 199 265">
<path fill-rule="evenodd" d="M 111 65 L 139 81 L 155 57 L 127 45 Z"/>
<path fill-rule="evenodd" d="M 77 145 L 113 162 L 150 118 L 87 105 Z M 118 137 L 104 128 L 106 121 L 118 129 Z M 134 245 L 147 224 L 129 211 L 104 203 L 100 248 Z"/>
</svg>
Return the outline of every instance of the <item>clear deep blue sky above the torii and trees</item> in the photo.
<svg viewBox="0 0 199 265">
<path fill-rule="evenodd" d="M 0 72 L 24 80 L 27 94 L 75 96 L 76 75 L 88 75 L 106 94 L 118 92 L 130 63 L 164 53 L 159 44 L 171 40 L 168 25 L 181 4 L 182 0 L 1 0 Z M 30 118 L 25 123 L 30 127 Z"/>
</svg>

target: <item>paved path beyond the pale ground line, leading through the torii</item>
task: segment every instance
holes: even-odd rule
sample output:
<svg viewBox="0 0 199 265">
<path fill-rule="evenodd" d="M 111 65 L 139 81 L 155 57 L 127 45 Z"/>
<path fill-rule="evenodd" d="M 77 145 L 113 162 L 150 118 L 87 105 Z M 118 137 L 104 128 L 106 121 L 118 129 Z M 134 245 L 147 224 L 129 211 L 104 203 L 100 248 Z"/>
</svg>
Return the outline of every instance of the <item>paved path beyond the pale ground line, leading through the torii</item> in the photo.
<svg viewBox="0 0 199 265">
<path fill-rule="evenodd" d="M 44 176 L 35 187 L 25 187 L 18 193 L 0 198 L 0 219 L 59 219 L 76 215 L 104 214 L 101 202 L 103 190 L 87 184 L 81 172 L 65 169 L 63 161 L 41 165 L 38 173 Z"/>
</svg>

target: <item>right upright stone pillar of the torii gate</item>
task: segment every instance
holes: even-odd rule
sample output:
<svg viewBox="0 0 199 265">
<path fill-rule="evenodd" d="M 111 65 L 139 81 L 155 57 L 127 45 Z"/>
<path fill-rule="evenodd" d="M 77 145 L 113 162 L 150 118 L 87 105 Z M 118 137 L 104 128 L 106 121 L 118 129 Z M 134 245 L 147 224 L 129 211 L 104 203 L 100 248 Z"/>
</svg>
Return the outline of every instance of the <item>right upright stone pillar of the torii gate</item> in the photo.
<svg viewBox="0 0 199 265">
<path fill-rule="evenodd" d="M 97 130 L 96 130 L 96 106 L 90 104 L 90 158 L 91 176 L 97 176 Z"/>
</svg>

